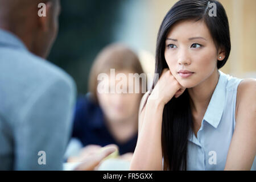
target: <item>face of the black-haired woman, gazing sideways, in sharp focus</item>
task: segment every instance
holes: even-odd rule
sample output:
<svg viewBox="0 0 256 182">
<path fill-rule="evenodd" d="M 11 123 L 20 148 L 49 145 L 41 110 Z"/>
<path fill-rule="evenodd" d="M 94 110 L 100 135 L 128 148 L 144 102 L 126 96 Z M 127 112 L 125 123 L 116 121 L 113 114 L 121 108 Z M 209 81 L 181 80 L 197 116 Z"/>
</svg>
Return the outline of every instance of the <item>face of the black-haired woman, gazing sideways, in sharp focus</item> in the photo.
<svg viewBox="0 0 256 182">
<path fill-rule="evenodd" d="M 185 88 L 199 85 L 210 77 L 217 71 L 217 60 L 223 60 L 224 56 L 224 52 L 217 51 L 203 21 L 177 22 L 167 34 L 164 57 L 172 75 Z M 184 74 L 181 70 L 192 73 Z"/>
</svg>

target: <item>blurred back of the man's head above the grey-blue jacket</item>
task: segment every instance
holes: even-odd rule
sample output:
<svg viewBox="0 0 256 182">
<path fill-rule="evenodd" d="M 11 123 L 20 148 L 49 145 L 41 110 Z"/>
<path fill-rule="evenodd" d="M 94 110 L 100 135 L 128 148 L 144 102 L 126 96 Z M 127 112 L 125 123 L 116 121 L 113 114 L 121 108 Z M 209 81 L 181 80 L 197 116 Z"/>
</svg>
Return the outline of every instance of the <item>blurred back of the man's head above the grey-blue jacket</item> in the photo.
<svg viewBox="0 0 256 182">
<path fill-rule="evenodd" d="M 40 17 L 39 3 L 46 16 Z M 0 0 L 0 28 L 13 32 L 27 48 L 46 58 L 59 29 L 60 0 Z"/>
</svg>

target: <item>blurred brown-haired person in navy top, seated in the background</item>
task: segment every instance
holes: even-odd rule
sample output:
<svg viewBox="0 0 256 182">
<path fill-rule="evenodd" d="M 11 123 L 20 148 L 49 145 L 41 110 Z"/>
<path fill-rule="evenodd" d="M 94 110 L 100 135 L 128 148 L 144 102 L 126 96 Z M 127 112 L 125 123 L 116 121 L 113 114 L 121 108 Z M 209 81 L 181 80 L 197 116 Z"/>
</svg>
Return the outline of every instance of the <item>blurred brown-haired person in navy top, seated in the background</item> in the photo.
<svg viewBox="0 0 256 182">
<path fill-rule="evenodd" d="M 115 75 L 125 74 L 127 90 L 130 86 L 129 73 L 143 73 L 137 55 L 123 44 L 111 44 L 99 53 L 90 71 L 89 93 L 77 100 L 75 110 L 72 137 L 79 139 L 84 148 L 79 156 L 71 156 L 69 162 L 77 162 L 82 156 L 97 152 L 106 144 L 116 144 L 121 158 L 131 159 L 137 143 L 142 79 L 139 81 L 139 93 L 135 90 L 133 93 L 99 93 L 100 73 L 109 76 L 110 79 L 105 81 L 109 87 L 113 83 L 118 84 L 118 79 L 111 77 L 110 69 L 114 69 Z"/>
</svg>

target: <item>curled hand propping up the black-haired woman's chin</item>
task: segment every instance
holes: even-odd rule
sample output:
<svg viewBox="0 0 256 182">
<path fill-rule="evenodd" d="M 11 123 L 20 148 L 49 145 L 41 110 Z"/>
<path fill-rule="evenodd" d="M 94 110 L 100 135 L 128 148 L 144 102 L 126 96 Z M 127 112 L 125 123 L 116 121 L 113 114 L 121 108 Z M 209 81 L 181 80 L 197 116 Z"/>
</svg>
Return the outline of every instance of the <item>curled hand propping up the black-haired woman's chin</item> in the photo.
<svg viewBox="0 0 256 182">
<path fill-rule="evenodd" d="M 148 99 L 157 99 L 166 105 L 172 97 L 178 98 L 186 88 L 177 82 L 170 69 L 165 68 Z"/>
</svg>

